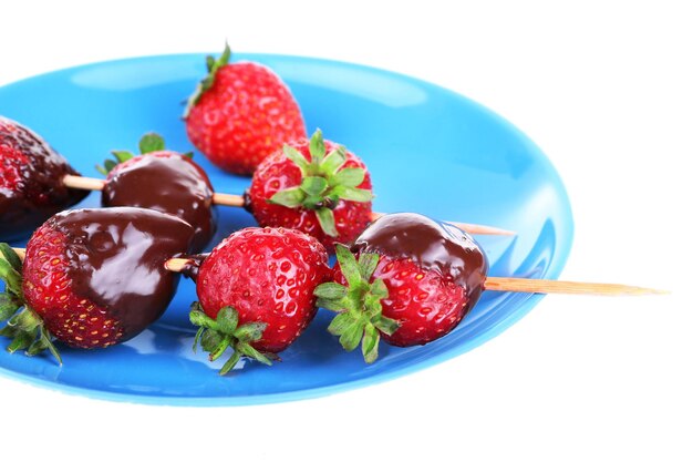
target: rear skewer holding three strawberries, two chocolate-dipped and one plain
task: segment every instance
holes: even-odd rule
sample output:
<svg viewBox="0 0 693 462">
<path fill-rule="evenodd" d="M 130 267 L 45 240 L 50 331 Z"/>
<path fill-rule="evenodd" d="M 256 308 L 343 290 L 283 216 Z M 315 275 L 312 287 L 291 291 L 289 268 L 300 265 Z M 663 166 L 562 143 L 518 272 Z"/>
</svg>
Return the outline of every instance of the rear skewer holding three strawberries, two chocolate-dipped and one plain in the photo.
<svg viewBox="0 0 693 462">
<path fill-rule="evenodd" d="M 133 206 L 170 213 L 195 228 L 193 251 L 207 246 L 216 230 L 214 204 L 245 207 L 260 226 L 291 227 L 317 237 L 328 250 L 352 242 L 382 214 L 373 198 L 365 165 L 317 131 L 266 158 L 244 196 L 215 193 L 207 174 L 189 158 L 166 150 L 164 140 L 145 134 L 143 155 L 114 151 L 100 172 L 105 179 L 74 172 L 35 133 L 0 117 L 0 240 L 30 233 L 52 214 L 74 205 L 87 191 L 102 191 L 103 206 Z M 146 154 L 146 155 L 144 155 Z M 8 161 L 9 160 L 9 161 Z M 455 224 L 475 234 L 511 234 L 488 226 Z"/>
</svg>

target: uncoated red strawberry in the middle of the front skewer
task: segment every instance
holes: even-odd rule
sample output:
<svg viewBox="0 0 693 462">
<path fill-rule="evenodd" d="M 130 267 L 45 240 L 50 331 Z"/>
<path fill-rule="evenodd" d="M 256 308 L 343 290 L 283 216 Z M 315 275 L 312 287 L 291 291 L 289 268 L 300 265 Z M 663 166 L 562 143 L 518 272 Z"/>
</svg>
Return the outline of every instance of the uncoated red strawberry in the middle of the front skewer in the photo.
<svg viewBox="0 0 693 462">
<path fill-rule="evenodd" d="M 220 373 L 242 357 L 263 363 L 286 349 L 316 315 L 313 290 L 329 276 L 328 254 L 294 229 L 245 228 L 231 234 L 201 263 L 199 302 L 190 321 L 199 326 L 209 360 L 234 349 Z"/>
</svg>

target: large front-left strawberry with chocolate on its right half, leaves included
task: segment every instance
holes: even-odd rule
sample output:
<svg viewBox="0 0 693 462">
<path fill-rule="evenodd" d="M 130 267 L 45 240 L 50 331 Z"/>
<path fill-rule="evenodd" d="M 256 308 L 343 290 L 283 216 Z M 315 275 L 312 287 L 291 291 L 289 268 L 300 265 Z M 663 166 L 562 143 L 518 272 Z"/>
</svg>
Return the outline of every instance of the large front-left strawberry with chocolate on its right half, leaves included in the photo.
<svg viewBox="0 0 693 462">
<path fill-rule="evenodd" d="M 29 243 L 23 265 L 0 245 L 0 333 L 10 351 L 44 349 L 51 336 L 74 348 L 105 348 L 144 330 L 166 309 L 177 275 L 164 263 L 187 251 L 193 228 L 134 207 L 75 209 L 51 217 Z M 23 309 L 22 309 L 23 307 Z"/>
</svg>

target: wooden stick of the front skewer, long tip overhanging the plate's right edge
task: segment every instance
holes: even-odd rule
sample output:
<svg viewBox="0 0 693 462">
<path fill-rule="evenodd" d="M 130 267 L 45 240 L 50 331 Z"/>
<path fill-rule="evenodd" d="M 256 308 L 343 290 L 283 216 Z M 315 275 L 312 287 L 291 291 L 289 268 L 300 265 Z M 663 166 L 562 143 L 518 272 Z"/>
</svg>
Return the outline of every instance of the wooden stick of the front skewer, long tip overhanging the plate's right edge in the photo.
<svg viewBox="0 0 693 462">
<path fill-rule="evenodd" d="M 27 250 L 23 248 L 13 248 L 13 250 L 23 261 L 24 256 L 27 255 Z M 189 258 L 169 258 L 164 265 L 169 271 L 180 273 L 190 263 L 193 263 L 193 260 Z M 484 289 L 529 294 L 570 294 L 606 296 L 669 294 L 668 290 L 625 286 L 622 284 L 575 283 L 568 280 L 530 279 L 515 277 L 487 277 L 486 281 L 484 283 Z"/>
</svg>

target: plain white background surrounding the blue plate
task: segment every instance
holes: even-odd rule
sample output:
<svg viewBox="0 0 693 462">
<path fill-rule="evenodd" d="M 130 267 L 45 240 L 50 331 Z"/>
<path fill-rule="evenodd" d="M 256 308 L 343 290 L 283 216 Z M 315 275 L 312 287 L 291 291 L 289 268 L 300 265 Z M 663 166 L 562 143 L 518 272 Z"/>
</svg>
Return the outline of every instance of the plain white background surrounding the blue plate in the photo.
<svg viewBox="0 0 693 462">
<path fill-rule="evenodd" d="M 3 2 L 0 84 L 91 61 L 216 52 L 226 38 L 238 51 L 412 74 L 497 111 L 555 163 L 576 222 L 563 278 L 673 294 L 550 296 L 454 360 L 285 404 L 123 404 L 0 378 L 3 460 L 693 459 L 686 2 L 232 3 Z"/>
</svg>

